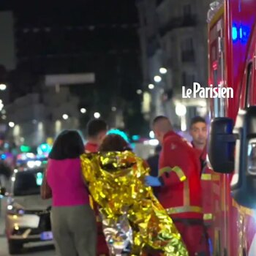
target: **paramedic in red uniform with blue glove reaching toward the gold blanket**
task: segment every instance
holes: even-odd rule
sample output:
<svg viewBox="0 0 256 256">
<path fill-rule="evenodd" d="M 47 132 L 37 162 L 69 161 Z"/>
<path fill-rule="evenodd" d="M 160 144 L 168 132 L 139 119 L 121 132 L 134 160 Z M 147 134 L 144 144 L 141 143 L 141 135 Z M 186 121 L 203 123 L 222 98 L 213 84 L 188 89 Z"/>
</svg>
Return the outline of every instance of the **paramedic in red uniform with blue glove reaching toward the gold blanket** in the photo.
<svg viewBox="0 0 256 256">
<path fill-rule="evenodd" d="M 153 130 L 162 144 L 159 177 L 147 176 L 146 185 L 160 187 L 159 202 L 181 233 L 189 256 L 208 256 L 197 154 L 165 116 L 154 119 Z"/>
</svg>

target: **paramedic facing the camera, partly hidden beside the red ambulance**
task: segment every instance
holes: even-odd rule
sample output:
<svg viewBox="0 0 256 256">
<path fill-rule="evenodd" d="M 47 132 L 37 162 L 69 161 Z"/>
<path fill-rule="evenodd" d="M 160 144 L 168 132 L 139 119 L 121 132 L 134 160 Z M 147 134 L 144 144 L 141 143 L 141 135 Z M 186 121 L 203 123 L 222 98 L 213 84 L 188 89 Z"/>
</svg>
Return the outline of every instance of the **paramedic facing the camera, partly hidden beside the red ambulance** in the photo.
<svg viewBox="0 0 256 256">
<path fill-rule="evenodd" d="M 192 118 L 189 133 L 192 136 L 192 146 L 197 150 L 201 165 L 201 187 L 203 192 L 203 219 L 210 237 L 210 244 L 214 234 L 211 228 L 213 222 L 213 181 L 217 175 L 206 165 L 206 143 L 207 143 L 207 124 L 206 120 L 200 116 Z"/>
</svg>

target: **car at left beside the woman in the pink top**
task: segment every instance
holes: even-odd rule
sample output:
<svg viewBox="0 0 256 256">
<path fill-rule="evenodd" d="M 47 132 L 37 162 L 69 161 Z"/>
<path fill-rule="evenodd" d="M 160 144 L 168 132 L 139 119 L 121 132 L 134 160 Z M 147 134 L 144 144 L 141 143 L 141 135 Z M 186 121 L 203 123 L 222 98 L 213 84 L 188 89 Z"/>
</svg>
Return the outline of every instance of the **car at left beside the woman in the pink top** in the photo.
<svg viewBox="0 0 256 256">
<path fill-rule="evenodd" d="M 51 200 L 42 200 L 42 168 L 16 171 L 7 195 L 6 236 L 10 255 L 18 254 L 23 244 L 52 241 L 50 227 Z"/>
</svg>

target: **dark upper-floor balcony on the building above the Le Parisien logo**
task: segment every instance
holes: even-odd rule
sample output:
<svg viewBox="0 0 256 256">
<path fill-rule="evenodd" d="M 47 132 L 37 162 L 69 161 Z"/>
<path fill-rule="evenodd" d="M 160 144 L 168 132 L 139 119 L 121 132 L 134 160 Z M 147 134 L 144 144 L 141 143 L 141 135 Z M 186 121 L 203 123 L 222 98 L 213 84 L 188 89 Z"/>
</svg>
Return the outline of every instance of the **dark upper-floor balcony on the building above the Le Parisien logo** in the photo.
<svg viewBox="0 0 256 256">
<path fill-rule="evenodd" d="M 190 27 L 190 26 L 196 26 L 197 25 L 197 16 L 196 15 L 187 15 L 183 17 L 178 18 L 171 18 L 165 26 L 161 26 L 159 28 L 159 33 L 161 37 L 163 37 L 167 32 L 183 28 L 183 27 Z"/>
</svg>

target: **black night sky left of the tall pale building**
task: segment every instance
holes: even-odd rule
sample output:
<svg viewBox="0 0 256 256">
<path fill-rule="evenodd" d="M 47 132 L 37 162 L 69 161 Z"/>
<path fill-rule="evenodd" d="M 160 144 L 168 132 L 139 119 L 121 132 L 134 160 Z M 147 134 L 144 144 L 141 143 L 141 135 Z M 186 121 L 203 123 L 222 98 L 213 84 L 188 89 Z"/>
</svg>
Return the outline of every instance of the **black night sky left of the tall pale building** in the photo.
<svg viewBox="0 0 256 256">
<path fill-rule="evenodd" d="M 135 0 L 0 0 L 0 10 L 15 17 L 12 99 L 36 90 L 40 75 L 95 72 L 94 85 L 72 86 L 82 105 L 108 113 L 113 102 L 121 102 L 129 113 L 140 112 Z"/>
</svg>

